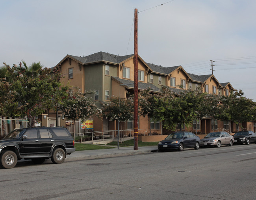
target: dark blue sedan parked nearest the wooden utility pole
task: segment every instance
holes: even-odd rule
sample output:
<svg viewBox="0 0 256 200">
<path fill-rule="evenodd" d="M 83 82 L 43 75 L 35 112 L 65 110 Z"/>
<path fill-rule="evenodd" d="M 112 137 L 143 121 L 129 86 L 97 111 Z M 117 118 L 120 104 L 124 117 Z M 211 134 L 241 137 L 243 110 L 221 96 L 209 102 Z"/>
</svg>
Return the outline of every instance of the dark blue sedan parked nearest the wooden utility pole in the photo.
<svg viewBox="0 0 256 200">
<path fill-rule="evenodd" d="M 160 151 L 165 149 L 178 149 L 183 151 L 184 148 L 199 149 L 200 138 L 191 132 L 178 131 L 168 135 L 165 140 L 158 143 L 158 149 Z"/>
</svg>

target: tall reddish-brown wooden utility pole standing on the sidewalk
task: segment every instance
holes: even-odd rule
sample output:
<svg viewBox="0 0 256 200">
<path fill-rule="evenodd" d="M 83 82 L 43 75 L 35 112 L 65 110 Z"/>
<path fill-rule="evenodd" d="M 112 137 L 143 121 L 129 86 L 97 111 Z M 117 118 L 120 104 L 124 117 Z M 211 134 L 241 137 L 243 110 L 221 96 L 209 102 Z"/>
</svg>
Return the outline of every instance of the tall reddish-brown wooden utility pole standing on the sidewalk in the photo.
<svg viewBox="0 0 256 200">
<path fill-rule="evenodd" d="M 138 9 L 134 10 L 134 150 L 138 150 Z"/>
</svg>

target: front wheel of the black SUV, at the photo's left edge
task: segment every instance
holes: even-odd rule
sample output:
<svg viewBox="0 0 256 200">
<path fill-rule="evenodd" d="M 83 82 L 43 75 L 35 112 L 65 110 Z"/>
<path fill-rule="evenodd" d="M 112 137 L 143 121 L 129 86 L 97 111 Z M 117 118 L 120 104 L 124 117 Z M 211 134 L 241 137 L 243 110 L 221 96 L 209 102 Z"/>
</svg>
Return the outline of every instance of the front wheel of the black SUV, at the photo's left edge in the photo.
<svg viewBox="0 0 256 200">
<path fill-rule="evenodd" d="M 0 155 L 1 166 L 5 169 L 15 167 L 17 164 L 17 155 L 13 151 L 4 151 Z"/>
</svg>

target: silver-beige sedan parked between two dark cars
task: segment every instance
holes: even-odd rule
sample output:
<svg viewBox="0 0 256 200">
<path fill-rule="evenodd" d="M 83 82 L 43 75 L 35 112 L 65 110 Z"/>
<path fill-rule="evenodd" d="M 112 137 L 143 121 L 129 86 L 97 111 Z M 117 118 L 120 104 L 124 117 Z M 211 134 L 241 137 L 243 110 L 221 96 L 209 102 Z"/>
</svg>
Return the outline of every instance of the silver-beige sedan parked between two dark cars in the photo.
<svg viewBox="0 0 256 200">
<path fill-rule="evenodd" d="M 221 147 L 221 145 L 230 145 L 232 146 L 234 143 L 234 137 L 229 135 L 225 131 L 221 132 L 212 132 L 206 135 L 203 139 L 201 139 L 201 146 L 214 145 L 216 147 Z"/>
</svg>

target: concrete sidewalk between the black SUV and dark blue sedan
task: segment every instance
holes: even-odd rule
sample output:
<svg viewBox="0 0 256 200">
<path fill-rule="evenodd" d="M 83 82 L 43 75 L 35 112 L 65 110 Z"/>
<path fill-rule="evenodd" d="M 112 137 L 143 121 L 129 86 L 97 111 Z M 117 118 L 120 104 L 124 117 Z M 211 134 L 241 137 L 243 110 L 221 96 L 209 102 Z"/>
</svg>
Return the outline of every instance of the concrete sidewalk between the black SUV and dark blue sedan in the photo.
<svg viewBox="0 0 256 200">
<path fill-rule="evenodd" d="M 158 151 L 157 146 L 138 147 L 138 150 L 134 150 L 134 147 L 119 147 L 119 149 L 96 149 L 96 150 L 85 150 L 75 151 L 68 155 L 65 161 L 76 161 L 76 160 L 90 160 L 96 158 L 110 158 L 117 156 L 129 156 L 136 154 L 145 154 Z"/>
</svg>

